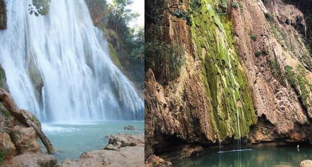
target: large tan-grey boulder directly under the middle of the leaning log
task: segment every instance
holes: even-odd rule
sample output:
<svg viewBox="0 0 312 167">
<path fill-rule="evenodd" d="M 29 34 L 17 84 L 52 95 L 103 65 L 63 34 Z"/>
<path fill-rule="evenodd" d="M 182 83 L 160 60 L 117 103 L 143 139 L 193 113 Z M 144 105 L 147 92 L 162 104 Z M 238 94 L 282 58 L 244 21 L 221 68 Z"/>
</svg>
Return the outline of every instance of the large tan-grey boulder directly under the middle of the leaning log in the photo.
<svg viewBox="0 0 312 167">
<path fill-rule="evenodd" d="M 37 134 L 33 127 L 17 125 L 10 133 L 12 142 L 19 153 L 40 153 L 40 144 L 37 141 Z"/>
</svg>

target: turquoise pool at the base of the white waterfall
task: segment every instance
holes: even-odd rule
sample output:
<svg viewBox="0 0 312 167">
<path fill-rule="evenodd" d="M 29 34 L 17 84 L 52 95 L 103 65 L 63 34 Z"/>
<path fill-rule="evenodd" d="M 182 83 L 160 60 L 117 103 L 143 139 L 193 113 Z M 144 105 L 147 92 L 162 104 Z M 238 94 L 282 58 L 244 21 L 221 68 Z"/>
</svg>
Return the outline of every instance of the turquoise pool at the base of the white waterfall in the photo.
<svg viewBox="0 0 312 167">
<path fill-rule="evenodd" d="M 125 126 L 132 125 L 139 130 L 124 130 Z M 76 160 L 85 151 L 102 149 L 108 144 L 109 134 L 144 133 L 143 121 L 102 121 L 82 122 L 75 124 L 42 124 L 42 130 L 49 138 L 56 151 L 58 163 L 65 158 Z M 41 143 L 42 151 L 46 151 Z"/>
</svg>

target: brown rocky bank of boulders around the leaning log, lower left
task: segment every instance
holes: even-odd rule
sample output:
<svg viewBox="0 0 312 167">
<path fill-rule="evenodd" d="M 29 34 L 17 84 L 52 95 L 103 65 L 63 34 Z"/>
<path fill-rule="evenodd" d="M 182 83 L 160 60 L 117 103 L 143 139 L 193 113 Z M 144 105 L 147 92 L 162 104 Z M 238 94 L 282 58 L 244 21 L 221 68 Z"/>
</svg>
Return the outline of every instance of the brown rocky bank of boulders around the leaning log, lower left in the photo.
<svg viewBox="0 0 312 167">
<path fill-rule="evenodd" d="M 0 71 L 0 87 L 8 90 L 5 72 Z M 32 113 L 27 114 L 37 120 Z M 53 155 L 41 153 L 34 128 L 16 120 L 0 103 L 0 166 L 54 166 L 56 162 Z"/>
</svg>

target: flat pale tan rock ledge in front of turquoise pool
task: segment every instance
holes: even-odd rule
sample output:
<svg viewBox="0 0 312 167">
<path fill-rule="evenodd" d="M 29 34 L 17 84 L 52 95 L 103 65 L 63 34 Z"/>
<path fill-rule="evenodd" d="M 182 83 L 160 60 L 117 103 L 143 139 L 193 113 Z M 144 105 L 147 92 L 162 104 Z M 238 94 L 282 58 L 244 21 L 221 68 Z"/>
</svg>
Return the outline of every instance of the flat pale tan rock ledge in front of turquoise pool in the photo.
<svg viewBox="0 0 312 167">
<path fill-rule="evenodd" d="M 59 167 L 69 166 L 143 166 L 144 135 L 109 135 L 109 144 L 101 150 L 84 152 L 79 159 L 65 159 Z"/>
</svg>

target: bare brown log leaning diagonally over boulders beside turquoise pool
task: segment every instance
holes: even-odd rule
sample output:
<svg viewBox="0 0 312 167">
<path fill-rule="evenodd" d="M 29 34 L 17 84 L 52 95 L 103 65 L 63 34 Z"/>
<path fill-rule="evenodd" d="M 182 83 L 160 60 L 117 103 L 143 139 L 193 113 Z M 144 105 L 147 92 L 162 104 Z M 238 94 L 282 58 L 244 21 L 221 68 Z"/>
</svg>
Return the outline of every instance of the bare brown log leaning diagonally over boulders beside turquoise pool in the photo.
<svg viewBox="0 0 312 167">
<path fill-rule="evenodd" d="M 9 112 L 20 122 L 25 124 L 27 127 L 33 127 L 35 132 L 41 139 L 42 143 L 44 144 L 45 148 L 47 149 L 48 153 L 54 153 L 54 149 L 52 144 L 50 143 L 49 139 L 44 135 L 41 131 L 41 128 L 31 119 L 26 113 L 26 110 L 21 110 L 17 107 L 15 101 L 4 89 L 0 88 L 0 102 L 4 104 L 4 106 L 9 110 Z"/>
</svg>

